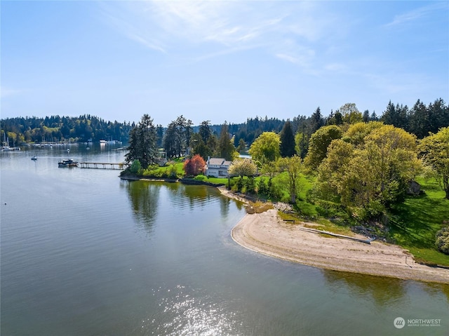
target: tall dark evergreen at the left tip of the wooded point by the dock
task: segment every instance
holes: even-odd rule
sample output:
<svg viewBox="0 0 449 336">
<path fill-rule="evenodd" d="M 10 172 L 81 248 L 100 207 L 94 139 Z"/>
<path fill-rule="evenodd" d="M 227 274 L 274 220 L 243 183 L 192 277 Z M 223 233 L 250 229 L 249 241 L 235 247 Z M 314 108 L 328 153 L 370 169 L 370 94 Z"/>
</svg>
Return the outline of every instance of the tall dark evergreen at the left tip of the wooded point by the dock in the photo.
<svg viewBox="0 0 449 336">
<path fill-rule="evenodd" d="M 138 126 L 130 131 L 129 152 L 126 154 L 126 163 L 138 160 L 142 168 L 156 162 L 158 152 L 156 147 L 156 128 L 153 119 L 144 114 Z"/>
</svg>

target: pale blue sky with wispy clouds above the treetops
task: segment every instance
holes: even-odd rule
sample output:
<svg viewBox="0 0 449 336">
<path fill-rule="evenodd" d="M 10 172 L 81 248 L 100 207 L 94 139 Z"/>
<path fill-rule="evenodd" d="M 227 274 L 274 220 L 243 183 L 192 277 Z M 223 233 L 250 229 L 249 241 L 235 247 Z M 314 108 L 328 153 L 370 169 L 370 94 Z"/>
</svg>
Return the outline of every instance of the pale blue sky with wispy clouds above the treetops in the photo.
<svg viewBox="0 0 449 336">
<path fill-rule="evenodd" d="M 449 101 L 449 1 L 4 1 L 1 118 L 167 126 Z"/>
</svg>

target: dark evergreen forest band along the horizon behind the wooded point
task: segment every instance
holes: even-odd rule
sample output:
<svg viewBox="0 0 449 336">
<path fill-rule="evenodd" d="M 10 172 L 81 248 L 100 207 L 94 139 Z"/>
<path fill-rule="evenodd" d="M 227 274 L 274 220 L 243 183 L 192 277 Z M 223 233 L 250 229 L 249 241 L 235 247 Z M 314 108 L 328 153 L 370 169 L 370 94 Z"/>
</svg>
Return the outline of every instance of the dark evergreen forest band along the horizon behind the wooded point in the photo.
<svg viewBox="0 0 449 336">
<path fill-rule="evenodd" d="M 407 105 L 395 105 L 390 101 L 381 116 L 377 116 L 375 112 L 370 113 L 368 110 L 359 112 L 354 103 L 347 103 L 335 112 L 330 111 L 328 116 L 323 116 L 321 109 L 317 107 L 311 116 L 298 115 L 290 119 L 293 134 L 300 139 L 297 154 L 302 158 L 305 157 L 311 135 L 321 126 L 338 126 L 358 121 L 383 121 L 385 124 L 403 128 L 408 133 L 415 134 L 418 139 L 422 139 L 429 135 L 429 132 L 436 133 L 439 128 L 449 126 L 449 107 L 441 98 L 429 105 L 417 100 L 411 108 Z M 9 146 L 25 142 L 86 142 L 89 139 L 128 142 L 130 130 L 135 127 L 134 122 L 105 121 L 91 115 L 17 117 L 1 119 L 0 122 L 2 144 Z M 263 132 L 280 133 L 285 123 L 286 120 L 255 116 L 248 118 L 245 123 L 225 124 L 227 132 L 233 137 L 235 147 L 242 144 L 248 147 Z M 203 121 L 202 125 L 207 125 L 211 135 L 215 137 L 221 133 L 222 125 L 211 125 L 209 121 Z M 158 146 L 165 147 L 164 138 L 177 135 L 176 130 L 179 128 L 185 129 L 190 137 L 199 133 L 201 125 L 193 126 L 192 121 L 183 116 L 178 117 L 168 126 L 157 125 Z M 8 143 L 4 144 L 6 139 Z M 186 141 L 188 144 L 189 139 Z M 165 145 L 170 144 L 165 142 Z M 175 154 L 176 151 L 173 149 L 172 152 Z"/>
</svg>

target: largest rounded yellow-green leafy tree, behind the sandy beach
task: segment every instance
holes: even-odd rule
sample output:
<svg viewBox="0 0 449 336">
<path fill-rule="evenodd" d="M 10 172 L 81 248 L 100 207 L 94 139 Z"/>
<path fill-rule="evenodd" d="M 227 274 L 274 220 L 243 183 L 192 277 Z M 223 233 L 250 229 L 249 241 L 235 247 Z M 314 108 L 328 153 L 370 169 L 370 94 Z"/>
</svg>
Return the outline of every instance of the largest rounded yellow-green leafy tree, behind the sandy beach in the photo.
<svg viewBox="0 0 449 336">
<path fill-rule="evenodd" d="M 345 206 L 361 206 L 377 215 L 401 199 L 420 172 L 415 142 L 414 135 L 391 125 L 373 128 L 354 145 L 350 138 L 333 140 L 319 166 L 317 187 L 333 191 Z"/>
</svg>

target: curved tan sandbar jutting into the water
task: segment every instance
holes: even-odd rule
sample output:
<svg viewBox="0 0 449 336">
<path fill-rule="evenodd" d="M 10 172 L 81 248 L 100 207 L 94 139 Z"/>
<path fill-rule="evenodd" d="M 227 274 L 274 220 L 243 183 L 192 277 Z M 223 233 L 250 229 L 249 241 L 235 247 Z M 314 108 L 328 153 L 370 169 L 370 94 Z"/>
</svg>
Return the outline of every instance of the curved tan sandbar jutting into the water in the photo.
<svg viewBox="0 0 449 336">
<path fill-rule="evenodd" d="M 417 264 L 413 256 L 399 246 L 379 241 L 366 244 L 327 238 L 303 231 L 301 227 L 303 224 L 283 222 L 273 209 L 245 215 L 231 235 L 236 243 L 258 253 L 323 269 L 449 283 L 449 269 Z"/>
</svg>

